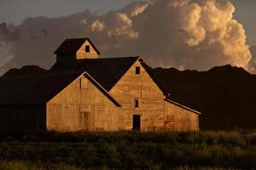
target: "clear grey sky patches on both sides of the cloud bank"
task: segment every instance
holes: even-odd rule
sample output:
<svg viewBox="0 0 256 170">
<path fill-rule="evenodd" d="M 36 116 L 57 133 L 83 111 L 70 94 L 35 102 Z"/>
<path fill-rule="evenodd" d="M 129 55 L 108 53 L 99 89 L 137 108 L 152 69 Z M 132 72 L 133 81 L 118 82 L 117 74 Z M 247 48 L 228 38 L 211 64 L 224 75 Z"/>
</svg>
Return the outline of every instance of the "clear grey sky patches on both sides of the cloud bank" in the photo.
<svg viewBox="0 0 256 170">
<path fill-rule="evenodd" d="M 132 0 L 0 0 L 0 22 L 20 24 L 27 17 L 58 17 L 89 8 L 98 14 L 121 8 Z M 256 45 L 256 1 L 233 0 L 236 6 L 235 18 L 247 32 L 249 45 Z"/>
</svg>

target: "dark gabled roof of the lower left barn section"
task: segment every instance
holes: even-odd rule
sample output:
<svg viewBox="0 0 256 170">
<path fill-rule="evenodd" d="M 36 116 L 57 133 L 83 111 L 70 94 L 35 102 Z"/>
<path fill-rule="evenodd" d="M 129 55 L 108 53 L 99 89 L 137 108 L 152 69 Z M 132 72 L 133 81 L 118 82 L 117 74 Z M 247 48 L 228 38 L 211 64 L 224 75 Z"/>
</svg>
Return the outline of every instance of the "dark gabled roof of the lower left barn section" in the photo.
<svg viewBox="0 0 256 170">
<path fill-rule="evenodd" d="M 61 72 L 38 75 L 6 76 L 0 78 L 0 105 L 45 104 L 70 83 L 84 75 L 96 85 L 108 99 L 120 106 L 116 99 L 86 72 Z"/>
</svg>

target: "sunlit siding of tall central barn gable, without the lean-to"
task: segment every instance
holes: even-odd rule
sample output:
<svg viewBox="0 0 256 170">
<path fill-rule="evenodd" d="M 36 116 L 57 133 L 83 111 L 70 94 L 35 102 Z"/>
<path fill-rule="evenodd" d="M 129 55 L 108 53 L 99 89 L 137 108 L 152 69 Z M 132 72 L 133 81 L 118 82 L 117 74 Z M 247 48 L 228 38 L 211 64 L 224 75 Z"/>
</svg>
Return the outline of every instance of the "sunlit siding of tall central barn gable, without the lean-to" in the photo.
<svg viewBox="0 0 256 170">
<path fill-rule="evenodd" d="M 136 67 L 140 74 L 136 74 Z M 164 127 L 165 96 L 137 61 L 110 90 L 110 94 L 122 104 L 119 129 L 132 129 L 132 116 L 141 115 L 142 131 Z M 135 108 L 138 99 L 138 108 Z"/>
</svg>

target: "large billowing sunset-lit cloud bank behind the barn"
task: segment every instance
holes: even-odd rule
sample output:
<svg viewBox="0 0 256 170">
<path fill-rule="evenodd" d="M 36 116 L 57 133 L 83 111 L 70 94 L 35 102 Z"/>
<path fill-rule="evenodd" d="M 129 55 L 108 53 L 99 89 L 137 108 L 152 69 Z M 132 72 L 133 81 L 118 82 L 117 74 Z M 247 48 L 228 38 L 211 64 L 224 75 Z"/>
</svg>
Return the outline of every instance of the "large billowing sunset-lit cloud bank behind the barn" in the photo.
<svg viewBox="0 0 256 170">
<path fill-rule="evenodd" d="M 153 66 L 207 70 L 236 65 L 253 71 L 243 26 L 230 0 L 154 0 L 110 11 L 84 11 L 59 18 L 28 18 L 0 26 L 2 69 L 34 64 L 49 68 L 55 48 L 68 37 L 90 37 L 102 57 L 141 55 Z M 1 50 L 1 48 L 0 48 Z M 6 58 L 4 56 L 13 56 Z M 4 59 L 2 59 L 4 60 Z"/>
</svg>

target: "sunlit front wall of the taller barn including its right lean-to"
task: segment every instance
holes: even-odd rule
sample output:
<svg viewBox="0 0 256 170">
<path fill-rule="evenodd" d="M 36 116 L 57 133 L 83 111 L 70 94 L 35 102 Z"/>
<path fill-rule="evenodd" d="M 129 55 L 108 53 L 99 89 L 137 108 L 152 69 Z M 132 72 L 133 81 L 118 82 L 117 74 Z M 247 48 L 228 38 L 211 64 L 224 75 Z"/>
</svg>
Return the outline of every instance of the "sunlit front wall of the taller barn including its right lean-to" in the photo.
<svg viewBox="0 0 256 170">
<path fill-rule="evenodd" d="M 136 74 L 137 66 L 140 67 L 140 74 Z M 119 129 L 131 130 L 132 116 L 140 115 L 142 131 L 166 128 L 178 131 L 198 130 L 198 115 L 166 102 L 165 95 L 139 61 L 132 65 L 115 84 L 110 94 L 122 104 L 123 110 L 119 113 Z M 134 99 L 139 101 L 138 108 L 135 108 Z M 172 115 L 174 115 L 175 127 L 168 127 Z"/>
</svg>

